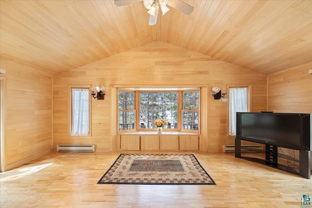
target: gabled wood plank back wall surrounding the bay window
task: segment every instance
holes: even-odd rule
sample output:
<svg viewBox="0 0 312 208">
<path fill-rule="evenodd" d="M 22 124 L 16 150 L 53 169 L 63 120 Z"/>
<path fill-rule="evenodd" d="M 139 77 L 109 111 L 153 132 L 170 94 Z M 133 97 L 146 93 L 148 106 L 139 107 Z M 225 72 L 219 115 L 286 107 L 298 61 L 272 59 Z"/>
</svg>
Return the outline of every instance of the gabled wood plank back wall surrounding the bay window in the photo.
<svg viewBox="0 0 312 208">
<path fill-rule="evenodd" d="M 105 100 L 92 99 L 92 136 L 69 136 L 68 85 L 101 83 L 106 96 Z M 216 85 L 222 89 L 229 84 L 251 84 L 252 110 L 267 110 L 267 76 L 163 42 L 152 42 L 54 76 L 54 150 L 57 144 L 96 144 L 97 151 L 113 151 L 110 148 L 112 85 L 200 85 L 209 89 Z M 210 90 L 202 96 L 208 96 L 206 151 L 221 152 L 224 144 L 234 144 L 234 138 L 226 135 L 227 103 L 214 100 Z"/>
</svg>

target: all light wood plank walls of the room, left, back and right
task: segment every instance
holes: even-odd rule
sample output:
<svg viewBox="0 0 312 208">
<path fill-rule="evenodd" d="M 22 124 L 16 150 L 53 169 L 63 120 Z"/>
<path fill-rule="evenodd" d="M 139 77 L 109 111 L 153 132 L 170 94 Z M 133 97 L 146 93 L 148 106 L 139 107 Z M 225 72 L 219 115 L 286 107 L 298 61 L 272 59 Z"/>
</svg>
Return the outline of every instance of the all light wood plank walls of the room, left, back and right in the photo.
<svg viewBox="0 0 312 208">
<path fill-rule="evenodd" d="M 110 85 L 227 85 L 252 84 L 252 111 L 312 113 L 312 63 L 291 68 L 268 77 L 253 71 L 203 56 L 162 42 L 151 44 L 102 59 L 55 76 L 36 74 L 29 65 L 1 63 L 7 70 L 5 79 L 5 158 L 9 170 L 54 151 L 57 144 L 96 144 L 97 151 L 111 151 Z M 52 82 L 53 119 L 52 131 Z M 105 84 L 105 100 L 92 101 L 92 136 L 68 136 L 68 95 L 70 84 Z M 214 100 L 208 93 L 207 151 L 221 152 L 224 144 L 234 144 L 226 136 L 226 103 Z M 268 105 L 268 109 L 267 109 Z M 102 132 L 106 132 L 102 136 Z M 216 132 L 219 136 L 216 137 Z M 54 135 L 53 135 L 54 133 Z M 52 140 L 52 135 L 54 141 Z M 116 136 L 115 136 L 116 137 Z M 117 138 L 120 139 L 120 136 Z M 19 140 L 22 144 L 19 145 Z M 290 152 L 292 154 L 292 152 Z"/>
</svg>

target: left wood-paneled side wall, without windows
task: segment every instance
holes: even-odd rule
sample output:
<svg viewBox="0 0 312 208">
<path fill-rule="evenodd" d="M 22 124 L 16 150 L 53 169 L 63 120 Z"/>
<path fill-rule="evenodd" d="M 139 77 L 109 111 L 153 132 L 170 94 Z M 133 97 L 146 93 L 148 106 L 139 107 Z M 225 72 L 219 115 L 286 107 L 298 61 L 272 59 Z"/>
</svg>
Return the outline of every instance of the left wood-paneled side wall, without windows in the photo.
<svg viewBox="0 0 312 208">
<path fill-rule="evenodd" d="M 1 64 L 4 78 L 4 170 L 52 151 L 52 77 Z"/>
</svg>

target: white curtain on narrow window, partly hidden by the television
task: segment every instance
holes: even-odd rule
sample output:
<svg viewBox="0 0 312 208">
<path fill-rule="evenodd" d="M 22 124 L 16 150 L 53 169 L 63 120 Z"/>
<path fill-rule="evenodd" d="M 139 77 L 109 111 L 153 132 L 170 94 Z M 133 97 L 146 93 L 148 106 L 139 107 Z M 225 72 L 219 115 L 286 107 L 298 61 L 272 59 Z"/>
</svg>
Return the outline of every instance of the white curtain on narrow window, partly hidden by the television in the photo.
<svg viewBox="0 0 312 208">
<path fill-rule="evenodd" d="M 247 87 L 231 87 L 229 94 L 229 130 L 230 135 L 236 135 L 236 112 L 248 111 L 248 88 Z"/>
</svg>

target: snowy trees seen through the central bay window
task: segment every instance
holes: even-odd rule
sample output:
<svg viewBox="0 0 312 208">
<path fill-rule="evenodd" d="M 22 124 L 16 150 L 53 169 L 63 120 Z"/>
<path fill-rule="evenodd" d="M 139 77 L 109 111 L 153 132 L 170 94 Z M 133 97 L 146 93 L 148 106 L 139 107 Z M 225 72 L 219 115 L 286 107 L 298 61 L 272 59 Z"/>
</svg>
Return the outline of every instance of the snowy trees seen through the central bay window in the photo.
<svg viewBox="0 0 312 208">
<path fill-rule="evenodd" d="M 119 89 L 119 131 L 151 130 L 156 128 L 153 122 L 160 118 L 167 121 L 167 129 L 172 131 L 181 131 L 181 128 L 198 131 L 199 95 L 199 88 L 176 91 Z"/>
</svg>

